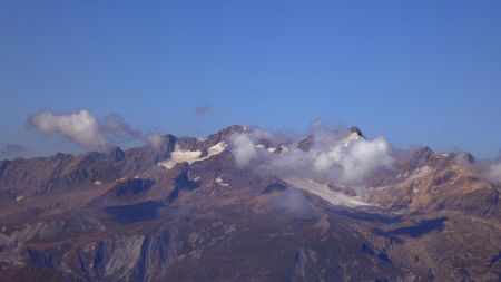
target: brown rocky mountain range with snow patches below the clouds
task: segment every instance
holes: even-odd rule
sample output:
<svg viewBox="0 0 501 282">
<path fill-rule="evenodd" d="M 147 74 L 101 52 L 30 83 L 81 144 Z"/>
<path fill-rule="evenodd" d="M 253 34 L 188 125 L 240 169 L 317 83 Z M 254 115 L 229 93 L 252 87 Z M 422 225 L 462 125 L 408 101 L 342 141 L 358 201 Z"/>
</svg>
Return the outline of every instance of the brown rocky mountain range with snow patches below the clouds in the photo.
<svg viewBox="0 0 501 282">
<path fill-rule="evenodd" d="M 471 156 L 414 149 L 338 185 L 237 165 L 246 130 L 0 162 L 0 280 L 501 281 L 500 187 Z"/>
</svg>

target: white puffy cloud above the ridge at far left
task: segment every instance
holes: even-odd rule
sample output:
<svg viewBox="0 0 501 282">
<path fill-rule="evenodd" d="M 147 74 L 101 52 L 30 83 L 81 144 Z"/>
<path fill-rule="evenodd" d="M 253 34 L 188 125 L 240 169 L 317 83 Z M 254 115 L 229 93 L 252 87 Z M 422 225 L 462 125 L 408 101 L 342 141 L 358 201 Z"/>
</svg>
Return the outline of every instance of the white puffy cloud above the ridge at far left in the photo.
<svg viewBox="0 0 501 282">
<path fill-rule="evenodd" d="M 29 117 L 29 124 L 46 135 L 60 135 L 86 148 L 109 148 L 117 143 L 139 139 L 143 135 L 132 129 L 118 115 L 102 121 L 86 109 L 70 114 L 43 110 Z"/>
</svg>

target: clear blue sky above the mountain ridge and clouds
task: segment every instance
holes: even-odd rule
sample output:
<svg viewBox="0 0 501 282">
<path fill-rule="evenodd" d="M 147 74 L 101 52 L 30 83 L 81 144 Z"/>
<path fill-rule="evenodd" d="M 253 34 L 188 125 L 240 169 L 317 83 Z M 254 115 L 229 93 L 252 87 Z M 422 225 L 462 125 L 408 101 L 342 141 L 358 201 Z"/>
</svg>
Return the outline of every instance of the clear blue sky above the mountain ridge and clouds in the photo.
<svg viewBox="0 0 501 282">
<path fill-rule="evenodd" d="M 501 1 L 0 0 L 0 158 L 86 150 L 29 125 L 114 114 L 204 137 L 358 126 L 498 156 Z"/>
</svg>

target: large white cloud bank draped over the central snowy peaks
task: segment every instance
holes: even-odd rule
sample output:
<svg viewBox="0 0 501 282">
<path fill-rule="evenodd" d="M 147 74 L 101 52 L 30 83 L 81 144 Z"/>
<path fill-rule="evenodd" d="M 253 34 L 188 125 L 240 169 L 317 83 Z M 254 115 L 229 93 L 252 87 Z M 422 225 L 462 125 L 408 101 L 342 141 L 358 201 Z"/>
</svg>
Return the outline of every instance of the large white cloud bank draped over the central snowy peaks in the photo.
<svg viewBox="0 0 501 282">
<path fill-rule="evenodd" d="M 365 139 L 347 129 L 331 130 L 323 123 L 313 125 L 312 137 L 303 148 L 298 142 L 289 140 L 271 152 L 259 145 L 264 135 L 283 139 L 264 130 L 232 136 L 237 165 L 281 177 L 301 176 L 356 185 L 382 169 L 391 169 L 394 163 L 391 146 L 383 137 Z"/>
</svg>

